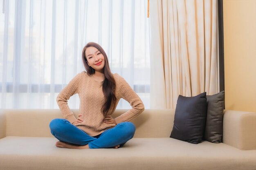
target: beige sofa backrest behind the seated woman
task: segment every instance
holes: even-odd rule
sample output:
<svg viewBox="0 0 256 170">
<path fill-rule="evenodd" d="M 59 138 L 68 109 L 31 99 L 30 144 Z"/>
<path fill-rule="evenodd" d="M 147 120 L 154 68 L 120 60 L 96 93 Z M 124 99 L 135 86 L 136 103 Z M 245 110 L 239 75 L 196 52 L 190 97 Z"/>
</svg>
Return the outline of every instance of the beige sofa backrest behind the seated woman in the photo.
<svg viewBox="0 0 256 170">
<path fill-rule="evenodd" d="M 128 109 L 116 109 L 112 117 L 118 117 Z M 7 109 L 6 136 L 53 137 L 49 129 L 52 119 L 63 118 L 59 109 Z M 75 117 L 79 110 L 72 109 Z M 145 109 L 131 122 L 135 124 L 134 137 L 170 137 L 175 110 Z"/>
</svg>

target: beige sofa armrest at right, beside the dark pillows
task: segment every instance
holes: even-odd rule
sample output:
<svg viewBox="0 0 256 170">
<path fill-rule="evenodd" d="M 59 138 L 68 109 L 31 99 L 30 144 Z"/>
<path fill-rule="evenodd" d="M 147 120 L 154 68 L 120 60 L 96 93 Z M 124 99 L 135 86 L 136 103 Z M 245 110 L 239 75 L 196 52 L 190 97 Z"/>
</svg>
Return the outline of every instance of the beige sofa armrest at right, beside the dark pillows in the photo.
<svg viewBox="0 0 256 170">
<path fill-rule="evenodd" d="M 223 143 L 240 150 L 256 149 L 256 113 L 225 110 Z"/>
</svg>

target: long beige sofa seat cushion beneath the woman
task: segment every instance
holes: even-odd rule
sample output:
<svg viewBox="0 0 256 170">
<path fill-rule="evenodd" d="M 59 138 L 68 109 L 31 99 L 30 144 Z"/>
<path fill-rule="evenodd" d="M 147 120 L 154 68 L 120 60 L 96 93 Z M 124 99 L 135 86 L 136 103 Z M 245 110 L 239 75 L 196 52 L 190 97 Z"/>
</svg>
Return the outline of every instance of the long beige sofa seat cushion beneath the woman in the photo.
<svg viewBox="0 0 256 170">
<path fill-rule="evenodd" d="M 57 148 L 53 137 L 0 139 L 1 170 L 254 170 L 256 150 L 208 141 L 133 138 L 119 149 Z M 97 167 L 97 168 L 96 168 Z"/>
</svg>

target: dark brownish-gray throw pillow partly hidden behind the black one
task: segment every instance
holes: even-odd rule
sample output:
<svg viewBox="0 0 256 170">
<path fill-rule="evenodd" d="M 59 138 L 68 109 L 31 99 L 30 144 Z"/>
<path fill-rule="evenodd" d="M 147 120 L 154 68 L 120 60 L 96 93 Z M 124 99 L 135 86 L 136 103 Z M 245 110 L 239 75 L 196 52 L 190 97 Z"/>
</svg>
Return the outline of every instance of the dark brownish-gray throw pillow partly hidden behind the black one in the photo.
<svg viewBox="0 0 256 170">
<path fill-rule="evenodd" d="M 215 95 L 207 95 L 207 118 L 204 140 L 212 143 L 222 142 L 222 121 L 225 107 L 225 91 Z"/>
</svg>

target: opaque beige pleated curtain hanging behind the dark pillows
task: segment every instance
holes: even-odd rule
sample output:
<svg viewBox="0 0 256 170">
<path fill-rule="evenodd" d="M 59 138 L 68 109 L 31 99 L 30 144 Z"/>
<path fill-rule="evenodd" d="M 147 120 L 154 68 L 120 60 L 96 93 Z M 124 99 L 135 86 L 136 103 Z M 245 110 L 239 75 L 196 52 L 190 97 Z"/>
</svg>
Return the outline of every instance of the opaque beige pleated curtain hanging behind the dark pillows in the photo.
<svg viewBox="0 0 256 170">
<path fill-rule="evenodd" d="M 150 1 L 150 108 L 218 93 L 217 0 Z"/>
</svg>

